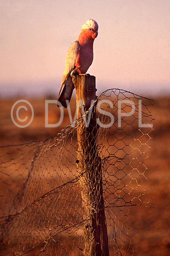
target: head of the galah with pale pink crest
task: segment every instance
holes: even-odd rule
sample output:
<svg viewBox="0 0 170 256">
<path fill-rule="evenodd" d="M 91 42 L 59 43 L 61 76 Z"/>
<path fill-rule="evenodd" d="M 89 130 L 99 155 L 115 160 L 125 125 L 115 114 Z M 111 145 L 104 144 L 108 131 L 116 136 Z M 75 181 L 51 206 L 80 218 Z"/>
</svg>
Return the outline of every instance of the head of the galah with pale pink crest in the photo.
<svg viewBox="0 0 170 256">
<path fill-rule="evenodd" d="M 88 19 L 81 31 L 86 38 L 95 39 L 98 36 L 98 23 L 94 19 Z"/>
</svg>

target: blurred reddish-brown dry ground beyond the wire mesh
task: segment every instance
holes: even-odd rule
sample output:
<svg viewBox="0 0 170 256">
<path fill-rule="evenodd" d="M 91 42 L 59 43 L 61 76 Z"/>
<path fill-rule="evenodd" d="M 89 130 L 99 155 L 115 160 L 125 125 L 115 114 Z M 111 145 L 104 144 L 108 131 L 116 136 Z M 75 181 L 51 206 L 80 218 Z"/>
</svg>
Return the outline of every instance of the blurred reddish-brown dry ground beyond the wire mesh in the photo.
<svg viewBox="0 0 170 256">
<path fill-rule="evenodd" d="M 68 111 L 64 110 L 64 120 L 59 127 L 45 127 L 45 99 L 27 99 L 34 108 L 34 119 L 30 126 L 19 128 L 14 125 L 10 115 L 16 100 L 19 99 L 0 100 L 0 146 L 46 139 L 56 135 L 62 127 L 70 123 Z M 71 106 L 72 113 L 75 113 L 74 99 Z M 24 111 L 19 112 L 21 119 L 25 117 Z M 145 162 L 148 167 L 148 180 L 144 187 L 153 207 L 135 206 L 130 209 L 129 235 L 135 248 L 135 256 L 170 254 L 170 98 L 156 98 L 151 113 L 155 119 L 154 131 L 151 134 L 153 139 L 149 142 L 151 149 L 148 150 L 148 159 Z M 31 116 L 30 110 L 27 111 L 27 116 Z M 48 123 L 57 123 L 59 119 L 60 109 L 56 104 L 50 104 Z"/>
</svg>

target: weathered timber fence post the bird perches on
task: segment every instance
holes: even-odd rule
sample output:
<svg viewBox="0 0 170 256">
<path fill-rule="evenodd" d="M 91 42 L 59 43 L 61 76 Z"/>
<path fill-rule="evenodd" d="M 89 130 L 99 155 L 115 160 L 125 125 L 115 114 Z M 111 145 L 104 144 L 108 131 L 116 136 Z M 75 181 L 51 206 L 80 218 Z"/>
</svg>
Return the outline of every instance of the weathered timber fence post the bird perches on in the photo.
<svg viewBox="0 0 170 256">
<path fill-rule="evenodd" d="M 83 107 L 87 111 L 91 100 L 96 98 L 95 77 L 81 74 L 72 76 L 72 81 L 76 89 L 77 106 L 79 100 L 82 100 Z M 77 118 L 80 117 L 82 117 L 81 106 L 77 112 Z M 87 115 L 86 120 L 88 120 Z M 80 173 L 79 182 L 85 220 L 83 250 L 85 256 L 109 256 L 97 132 L 96 113 L 95 107 L 93 107 L 89 126 L 85 127 L 85 122 L 82 119 L 77 129 L 78 159 L 76 162 Z"/>
</svg>

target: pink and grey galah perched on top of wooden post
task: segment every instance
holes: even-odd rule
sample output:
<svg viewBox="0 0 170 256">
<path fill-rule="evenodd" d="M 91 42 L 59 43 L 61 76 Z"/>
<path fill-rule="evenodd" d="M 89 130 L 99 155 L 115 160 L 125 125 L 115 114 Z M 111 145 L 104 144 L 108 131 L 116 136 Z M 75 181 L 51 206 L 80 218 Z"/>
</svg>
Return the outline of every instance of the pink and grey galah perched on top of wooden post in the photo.
<svg viewBox="0 0 170 256">
<path fill-rule="evenodd" d="M 67 107 L 66 100 L 70 101 L 74 90 L 72 75 L 85 74 L 93 62 L 93 42 L 97 36 L 98 23 L 94 19 L 88 19 L 82 25 L 78 38 L 68 49 L 58 98 L 63 107 Z"/>
</svg>

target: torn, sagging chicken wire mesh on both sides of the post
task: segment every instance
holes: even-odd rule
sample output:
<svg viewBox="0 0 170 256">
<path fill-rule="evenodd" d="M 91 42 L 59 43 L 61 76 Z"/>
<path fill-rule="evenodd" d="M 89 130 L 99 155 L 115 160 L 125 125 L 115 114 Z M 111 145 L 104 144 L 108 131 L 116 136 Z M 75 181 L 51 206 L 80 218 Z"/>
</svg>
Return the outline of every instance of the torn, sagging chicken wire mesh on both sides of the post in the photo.
<svg viewBox="0 0 170 256">
<path fill-rule="evenodd" d="M 152 101 L 110 89 L 94 104 L 109 253 L 133 255 L 129 207 L 150 204 L 142 182 Z M 84 255 L 90 216 L 83 214 L 80 186 L 89 168 L 80 173 L 77 164 L 82 122 L 44 141 L 0 147 L 0 255 Z"/>
</svg>

